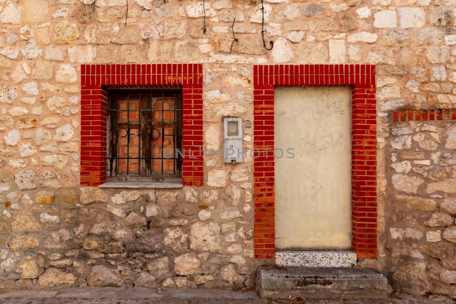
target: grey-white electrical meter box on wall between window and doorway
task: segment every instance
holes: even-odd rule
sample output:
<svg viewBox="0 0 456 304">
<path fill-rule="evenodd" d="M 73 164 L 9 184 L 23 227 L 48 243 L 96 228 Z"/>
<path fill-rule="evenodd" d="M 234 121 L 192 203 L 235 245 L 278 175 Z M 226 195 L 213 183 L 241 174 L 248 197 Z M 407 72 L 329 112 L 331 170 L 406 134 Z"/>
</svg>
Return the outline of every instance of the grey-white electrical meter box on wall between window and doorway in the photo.
<svg viewBox="0 0 456 304">
<path fill-rule="evenodd" d="M 223 161 L 242 163 L 242 118 L 223 117 Z"/>
</svg>

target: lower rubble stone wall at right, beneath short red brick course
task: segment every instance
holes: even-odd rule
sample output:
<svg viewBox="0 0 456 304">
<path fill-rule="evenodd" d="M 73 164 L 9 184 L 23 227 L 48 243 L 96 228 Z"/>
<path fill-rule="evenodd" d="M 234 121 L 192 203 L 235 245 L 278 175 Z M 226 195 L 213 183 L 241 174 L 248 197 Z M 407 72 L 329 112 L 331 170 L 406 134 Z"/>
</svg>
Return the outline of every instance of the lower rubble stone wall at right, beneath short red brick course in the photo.
<svg viewBox="0 0 456 304">
<path fill-rule="evenodd" d="M 456 298 L 455 148 L 454 121 L 391 126 L 387 271 L 414 293 Z"/>
</svg>

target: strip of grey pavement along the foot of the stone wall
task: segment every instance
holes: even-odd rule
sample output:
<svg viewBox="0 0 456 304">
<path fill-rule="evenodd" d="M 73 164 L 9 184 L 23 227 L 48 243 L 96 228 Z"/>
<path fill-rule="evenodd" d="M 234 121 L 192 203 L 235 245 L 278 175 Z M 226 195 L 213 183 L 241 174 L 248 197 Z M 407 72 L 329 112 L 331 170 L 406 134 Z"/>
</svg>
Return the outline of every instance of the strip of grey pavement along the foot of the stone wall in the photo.
<svg viewBox="0 0 456 304">
<path fill-rule="evenodd" d="M 3 290 L 0 303 L 17 304 L 214 304 L 214 303 L 306 303 L 306 304 L 447 304 L 449 302 L 425 299 L 409 294 L 398 294 L 389 299 L 369 300 L 309 300 L 290 301 L 259 299 L 255 291 L 239 292 L 231 289 L 165 289 L 159 294 L 158 289 L 134 288 L 92 288 L 58 290 Z M 451 302 L 450 302 L 451 303 Z"/>
</svg>

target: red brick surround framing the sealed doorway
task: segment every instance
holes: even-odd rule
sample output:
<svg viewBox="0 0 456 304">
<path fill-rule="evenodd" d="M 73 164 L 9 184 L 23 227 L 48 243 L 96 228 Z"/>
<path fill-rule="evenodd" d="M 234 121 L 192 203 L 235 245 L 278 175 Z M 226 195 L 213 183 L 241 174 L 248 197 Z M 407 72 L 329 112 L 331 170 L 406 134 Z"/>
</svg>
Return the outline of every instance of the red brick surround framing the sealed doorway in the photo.
<svg viewBox="0 0 456 304">
<path fill-rule="evenodd" d="M 377 130 L 374 65 L 254 66 L 254 252 L 275 258 L 274 88 L 352 88 L 352 250 L 377 257 Z"/>
</svg>

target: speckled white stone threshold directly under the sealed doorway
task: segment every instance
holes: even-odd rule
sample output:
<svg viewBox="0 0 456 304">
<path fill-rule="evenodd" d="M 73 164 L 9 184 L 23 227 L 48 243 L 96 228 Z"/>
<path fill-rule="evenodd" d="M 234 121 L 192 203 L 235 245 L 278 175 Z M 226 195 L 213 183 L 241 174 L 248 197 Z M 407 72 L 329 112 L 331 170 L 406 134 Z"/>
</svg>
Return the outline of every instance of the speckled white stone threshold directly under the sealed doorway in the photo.
<svg viewBox="0 0 456 304">
<path fill-rule="evenodd" d="M 356 253 L 350 250 L 276 251 L 275 264 L 287 267 L 355 267 Z"/>
</svg>

